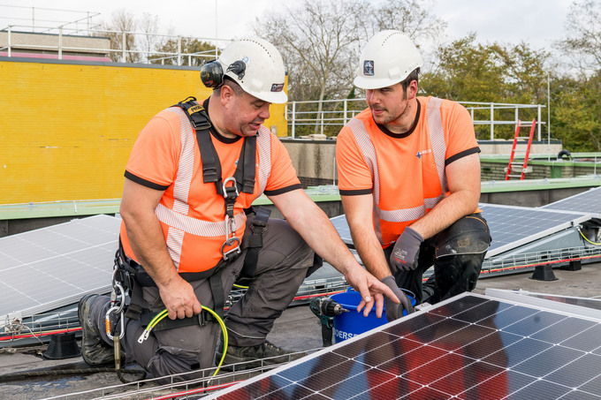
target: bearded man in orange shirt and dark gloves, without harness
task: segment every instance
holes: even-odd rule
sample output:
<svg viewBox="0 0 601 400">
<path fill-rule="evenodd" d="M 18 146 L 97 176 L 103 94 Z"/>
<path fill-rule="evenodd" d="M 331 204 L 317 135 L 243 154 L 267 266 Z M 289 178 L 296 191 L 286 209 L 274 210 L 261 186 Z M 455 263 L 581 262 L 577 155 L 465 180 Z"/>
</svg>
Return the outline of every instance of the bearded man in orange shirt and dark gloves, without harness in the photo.
<svg viewBox="0 0 601 400">
<path fill-rule="evenodd" d="M 490 245 L 477 208 L 480 148 L 467 109 L 417 97 L 422 57 L 399 31 L 365 46 L 354 85 L 365 109 L 337 140 L 339 191 L 365 267 L 405 303 L 436 303 L 475 288 Z M 422 286 L 422 275 L 434 275 Z M 386 304 L 389 321 L 399 314 Z"/>
</svg>

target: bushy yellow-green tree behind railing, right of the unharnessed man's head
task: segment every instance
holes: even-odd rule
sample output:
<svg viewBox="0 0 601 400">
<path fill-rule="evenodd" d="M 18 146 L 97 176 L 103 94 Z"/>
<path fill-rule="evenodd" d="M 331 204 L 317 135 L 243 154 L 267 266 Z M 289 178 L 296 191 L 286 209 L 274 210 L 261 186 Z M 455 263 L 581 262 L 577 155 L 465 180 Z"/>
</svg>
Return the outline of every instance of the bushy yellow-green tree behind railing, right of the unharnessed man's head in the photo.
<svg viewBox="0 0 601 400">
<path fill-rule="evenodd" d="M 545 64 L 550 53 L 531 49 L 525 42 L 517 45 L 476 42 L 475 34 L 440 46 L 437 64 L 422 75 L 422 93 L 460 102 L 547 102 Z M 499 109 L 495 117 L 512 120 L 513 109 Z M 475 110 L 475 119 L 490 118 L 489 109 Z M 536 117 L 535 109 L 522 111 L 521 119 Z M 476 134 L 488 134 L 488 128 L 476 126 Z M 513 126 L 495 128 L 495 136 L 513 137 Z"/>
</svg>

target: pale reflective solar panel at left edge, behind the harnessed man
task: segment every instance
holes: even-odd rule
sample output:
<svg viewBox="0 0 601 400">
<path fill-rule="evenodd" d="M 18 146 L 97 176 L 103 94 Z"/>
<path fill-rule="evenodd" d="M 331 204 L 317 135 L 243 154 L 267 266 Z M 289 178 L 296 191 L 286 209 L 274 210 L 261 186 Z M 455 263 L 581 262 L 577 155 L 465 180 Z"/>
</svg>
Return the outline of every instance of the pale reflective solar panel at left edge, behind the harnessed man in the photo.
<svg viewBox="0 0 601 400">
<path fill-rule="evenodd" d="M 27 317 L 108 291 L 119 224 L 95 215 L 0 238 L 0 315 Z"/>
</svg>

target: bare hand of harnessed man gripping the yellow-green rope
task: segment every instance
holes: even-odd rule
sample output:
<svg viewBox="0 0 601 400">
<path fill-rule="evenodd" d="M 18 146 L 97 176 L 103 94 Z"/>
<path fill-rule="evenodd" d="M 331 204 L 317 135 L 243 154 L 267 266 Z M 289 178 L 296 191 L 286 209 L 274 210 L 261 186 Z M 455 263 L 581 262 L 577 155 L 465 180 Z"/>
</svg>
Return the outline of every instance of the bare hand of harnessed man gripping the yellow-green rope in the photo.
<svg viewBox="0 0 601 400">
<path fill-rule="evenodd" d="M 194 294 L 194 289 L 179 276 L 166 285 L 159 287 L 159 293 L 171 320 L 184 319 L 201 313 L 201 302 Z"/>
</svg>

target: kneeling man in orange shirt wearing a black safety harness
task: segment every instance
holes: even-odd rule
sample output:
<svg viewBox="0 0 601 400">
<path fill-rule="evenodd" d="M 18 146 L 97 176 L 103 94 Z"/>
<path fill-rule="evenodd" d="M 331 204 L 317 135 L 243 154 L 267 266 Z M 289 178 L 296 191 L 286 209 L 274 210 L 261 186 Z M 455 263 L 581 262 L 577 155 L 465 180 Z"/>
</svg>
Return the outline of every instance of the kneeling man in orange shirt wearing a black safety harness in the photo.
<svg viewBox="0 0 601 400">
<path fill-rule="evenodd" d="M 223 313 L 237 279 L 248 289 L 225 319 L 225 362 L 281 360 L 290 351 L 266 336 L 320 265 L 314 250 L 361 292 L 366 315 L 374 305 L 382 313 L 383 293 L 394 297 L 354 260 L 328 217 L 301 190 L 285 147 L 262 126 L 270 103 L 287 101 L 278 50 L 261 39 L 232 42 L 202 67 L 201 79 L 214 88 L 209 99 L 164 109 L 133 146 L 118 253 L 119 273 L 134 275 L 132 300 L 124 320 L 112 318 L 114 334 L 107 335 L 100 327 L 110 298 L 81 298 L 82 356 L 90 365 L 114 359 L 110 336 L 122 334 L 123 323 L 120 345 L 127 360 L 155 377 L 210 367 L 220 325 L 206 323 L 210 315 L 202 306 Z M 262 192 L 286 221 L 248 211 Z M 164 309 L 174 322 L 165 320 L 143 339 L 148 315 Z"/>
</svg>

